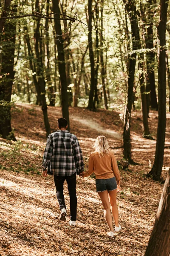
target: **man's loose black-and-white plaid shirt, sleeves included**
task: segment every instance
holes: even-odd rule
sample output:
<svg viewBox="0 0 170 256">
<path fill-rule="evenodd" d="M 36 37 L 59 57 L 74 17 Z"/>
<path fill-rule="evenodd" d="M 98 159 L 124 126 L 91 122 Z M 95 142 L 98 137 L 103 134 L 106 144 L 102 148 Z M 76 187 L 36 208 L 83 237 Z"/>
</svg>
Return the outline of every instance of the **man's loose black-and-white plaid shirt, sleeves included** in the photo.
<svg viewBox="0 0 170 256">
<path fill-rule="evenodd" d="M 71 176 L 77 169 L 84 171 L 82 150 L 74 134 L 58 130 L 48 136 L 42 168 L 49 164 L 51 173 L 57 176 Z"/>
</svg>

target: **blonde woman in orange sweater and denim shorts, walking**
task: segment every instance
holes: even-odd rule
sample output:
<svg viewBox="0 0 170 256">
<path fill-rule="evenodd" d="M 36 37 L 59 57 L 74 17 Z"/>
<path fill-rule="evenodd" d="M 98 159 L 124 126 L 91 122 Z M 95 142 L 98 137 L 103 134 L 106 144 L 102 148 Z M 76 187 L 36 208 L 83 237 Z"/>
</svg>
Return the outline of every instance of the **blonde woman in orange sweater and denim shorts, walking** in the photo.
<svg viewBox="0 0 170 256">
<path fill-rule="evenodd" d="M 115 221 L 115 232 L 119 232 L 119 213 L 116 204 L 116 193 L 120 191 L 120 173 L 115 155 L 109 150 L 108 141 L 105 136 L 99 136 L 94 145 L 95 151 L 90 155 L 88 171 L 82 173 L 82 177 L 87 177 L 93 172 L 96 175 L 96 192 L 104 207 L 105 220 L 109 227 L 108 236 L 114 236 L 110 204 Z M 110 197 L 110 202 L 109 198 Z"/>
</svg>

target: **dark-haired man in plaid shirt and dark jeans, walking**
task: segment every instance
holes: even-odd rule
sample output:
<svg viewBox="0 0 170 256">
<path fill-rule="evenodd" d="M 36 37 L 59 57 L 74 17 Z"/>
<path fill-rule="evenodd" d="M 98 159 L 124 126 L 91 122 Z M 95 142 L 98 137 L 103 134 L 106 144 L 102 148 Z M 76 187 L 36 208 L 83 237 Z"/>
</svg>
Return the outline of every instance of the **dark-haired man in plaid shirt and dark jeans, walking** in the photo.
<svg viewBox="0 0 170 256">
<path fill-rule="evenodd" d="M 50 172 L 54 174 L 54 183 L 57 191 L 57 199 L 61 210 L 60 220 L 66 220 L 66 206 L 63 194 L 63 184 L 67 181 L 70 195 L 70 225 L 76 225 L 77 196 L 76 196 L 76 172 L 84 171 L 82 150 L 79 141 L 74 134 L 68 132 L 67 120 L 59 118 L 58 131 L 50 134 L 47 139 L 44 157 L 42 161 L 42 175 L 47 176 L 46 168 L 50 164 Z"/>
</svg>

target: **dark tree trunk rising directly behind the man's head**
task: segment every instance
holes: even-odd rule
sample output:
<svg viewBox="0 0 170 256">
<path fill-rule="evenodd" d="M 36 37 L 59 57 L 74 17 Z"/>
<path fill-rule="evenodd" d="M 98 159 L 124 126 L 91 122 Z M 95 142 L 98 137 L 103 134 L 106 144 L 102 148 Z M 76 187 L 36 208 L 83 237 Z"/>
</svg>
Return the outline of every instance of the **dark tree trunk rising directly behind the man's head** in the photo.
<svg viewBox="0 0 170 256">
<path fill-rule="evenodd" d="M 54 17 L 59 17 L 59 0 L 52 0 Z M 64 58 L 64 47 L 60 20 L 54 20 L 55 30 L 58 37 L 57 50 L 58 50 L 58 67 L 61 81 L 61 104 L 62 104 L 62 116 L 68 121 L 69 127 L 69 111 L 68 111 L 68 92 L 67 92 L 67 78 L 65 73 L 65 58 Z"/>
</svg>

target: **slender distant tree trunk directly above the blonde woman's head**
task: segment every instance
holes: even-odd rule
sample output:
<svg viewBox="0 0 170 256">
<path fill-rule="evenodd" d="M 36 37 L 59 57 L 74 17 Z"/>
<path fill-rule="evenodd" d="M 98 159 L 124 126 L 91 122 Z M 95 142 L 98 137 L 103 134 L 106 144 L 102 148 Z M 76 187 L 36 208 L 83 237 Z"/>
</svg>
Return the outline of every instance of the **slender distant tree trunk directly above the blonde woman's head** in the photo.
<svg viewBox="0 0 170 256">
<path fill-rule="evenodd" d="M 101 63 L 102 88 L 103 88 L 105 109 L 108 109 L 108 99 L 106 96 L 106 89 L 105 89 L 105 67 L 104 67 L 104 61 L 103 61 L 103 6 L 104 6 L 104 0 L 101 0 L 100 63 Z"/>
</svg>

